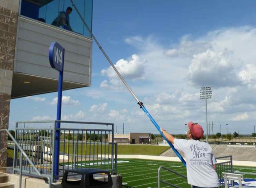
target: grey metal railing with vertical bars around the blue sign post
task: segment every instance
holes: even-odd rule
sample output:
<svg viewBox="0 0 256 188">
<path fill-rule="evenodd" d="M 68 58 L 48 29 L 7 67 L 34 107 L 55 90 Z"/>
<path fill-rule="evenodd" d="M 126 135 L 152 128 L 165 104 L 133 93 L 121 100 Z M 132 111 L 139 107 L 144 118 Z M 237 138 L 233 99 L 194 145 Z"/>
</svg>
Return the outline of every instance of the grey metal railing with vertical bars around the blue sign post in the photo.
<svg viewBox="0 0 256 188">
<path fill-rule="evenodd" d="M 61 123 L 61 127 L 55 128 L 56 123 Z M 68 125 L 64 126 L 65 124 Z M 76 128 L 69 128 L 70 124 Z M 111 126 L 111 129 L 106 126 Z M 59 167 L 57 168 L 59 175 L 57 176 L 54 175 L 56 131 L 60 132 Z M 113 123 L 33 121 L 17 122 L 15 138 L 37 170 L 55 180 L 62 177 L 65 170 L 74 168 L 100 168 L 116 174 L 117 143 L 113 141 L 113 133 Z M 109 135 L 112 135 L 111 138 Z M 19 148 L 15 147 L 14 172 L 20 169 L 19 152 Z M 24 164 L 22 166 L 24 172 L 37 173 L 31 165 L 28 165 L 27 160 L 24 160 Z"/>
</svg>

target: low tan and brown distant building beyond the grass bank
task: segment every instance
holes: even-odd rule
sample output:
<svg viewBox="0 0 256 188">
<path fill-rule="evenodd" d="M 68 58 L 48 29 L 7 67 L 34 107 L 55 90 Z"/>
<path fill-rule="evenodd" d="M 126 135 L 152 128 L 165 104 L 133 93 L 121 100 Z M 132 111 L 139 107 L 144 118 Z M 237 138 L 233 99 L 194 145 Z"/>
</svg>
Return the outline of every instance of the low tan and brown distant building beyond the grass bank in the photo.
<svg viewBox="0 0 256 188">
<path fill-rule="evenodd" d="M 109 142 L 111 142 L 112 135 L 109 135 Z M 130 143 L 130 144 L 143 144 L 151 143 L 151 133 L 130 133 L 130 134 L 115 134 L 115 143 Z"/>
</svg>

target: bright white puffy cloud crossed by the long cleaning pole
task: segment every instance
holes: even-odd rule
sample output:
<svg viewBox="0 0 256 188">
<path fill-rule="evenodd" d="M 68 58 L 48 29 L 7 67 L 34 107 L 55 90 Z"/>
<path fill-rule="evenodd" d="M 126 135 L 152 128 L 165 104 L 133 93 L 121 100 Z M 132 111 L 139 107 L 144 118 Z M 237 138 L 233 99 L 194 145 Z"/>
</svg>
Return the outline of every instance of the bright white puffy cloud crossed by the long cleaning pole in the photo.
<svg viewBox="0 0 256 188">
<path fill-rule="evenodd" d="M 132 55 L 130 61 L 120 59 L 114 66 L 123 78 L 131 80 L 143 79 L 145 60 L 141 60 L 136 54 Z M 104 80 L 101 82 L 101 87 L 113 86 L 113 88 L 117 89 L 123 86 L 122 81 L 112 66 L 101 70 L 101 74 L 109 78 L 109 81 Z"/>
</svg>

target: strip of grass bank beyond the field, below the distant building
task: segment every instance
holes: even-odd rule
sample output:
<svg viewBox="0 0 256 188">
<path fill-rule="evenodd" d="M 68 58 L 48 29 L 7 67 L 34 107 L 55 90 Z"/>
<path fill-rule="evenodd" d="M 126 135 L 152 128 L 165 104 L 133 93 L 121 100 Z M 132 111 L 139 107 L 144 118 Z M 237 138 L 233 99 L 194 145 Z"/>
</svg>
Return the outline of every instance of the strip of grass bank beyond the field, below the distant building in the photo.
<svg viewBox="0 0 256 188">
<path fill-rule="evenodd" d="M 63 144 L 60 145 L 60 151 L 64 151 L 65 153 L 73 154 L 73 143 L 69 144 L 69 148 L 67 143 L 65 144 L 65 147 Z M 83 148 L 81 145 L 78 145 L 78 154 L 85 154 L 85 150 L 87 155 L 89 153 L 95 154 L 108 154 L 111 152 L 111 145 L 103 144 L 102 148 L 101 146 L 97 146 L 97 144 L 93 145 L 86 145 L 86 149 Z M 160 155 L 164 151 L 168 150 L 170 147 L 168 146 L 154 146 L 154 145 L 118 145 L 118 155 Z M 106 149 L 106 151 L 105 151 Z"/>
</svg>

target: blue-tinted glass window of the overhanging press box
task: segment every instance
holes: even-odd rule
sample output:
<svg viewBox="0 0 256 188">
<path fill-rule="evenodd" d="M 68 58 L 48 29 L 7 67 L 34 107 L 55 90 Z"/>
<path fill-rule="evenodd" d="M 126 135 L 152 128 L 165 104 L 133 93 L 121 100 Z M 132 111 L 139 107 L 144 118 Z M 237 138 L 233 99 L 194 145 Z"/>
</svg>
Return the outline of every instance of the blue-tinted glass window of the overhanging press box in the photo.
<svg viewBox="0 0 256 188">
<path fill-rule="evenodd" d="M 93 0 L 73 0 L 73 2 L 88 27 L 92 29 Z M 91 37 L 70 0 L 21 0 L 20 14 Z"/>
</svg>

